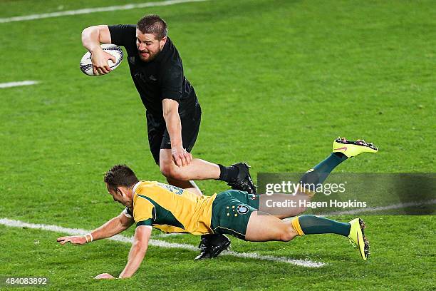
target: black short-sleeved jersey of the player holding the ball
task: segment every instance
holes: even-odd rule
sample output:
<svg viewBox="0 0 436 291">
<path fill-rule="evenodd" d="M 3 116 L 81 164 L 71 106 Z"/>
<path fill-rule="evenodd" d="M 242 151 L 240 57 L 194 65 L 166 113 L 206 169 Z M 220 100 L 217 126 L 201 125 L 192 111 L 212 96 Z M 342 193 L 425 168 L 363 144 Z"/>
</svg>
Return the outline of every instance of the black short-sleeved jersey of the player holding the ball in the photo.
<svg viewBox="0 0 436 291">
<path fill-rule="evenodd" d="M 137 51 L 135 25 L 108 27 L 112 44 L 124 46 L 128 53 L 130 75 L 148 113 L 163 118 L 162 100 L 166 98 L 179 103 L 180 116 L 198 106 L 194 88 L 183 73 L 182 58 L 169 37 L 156 58 L 145 62 Z"/>
</svg>

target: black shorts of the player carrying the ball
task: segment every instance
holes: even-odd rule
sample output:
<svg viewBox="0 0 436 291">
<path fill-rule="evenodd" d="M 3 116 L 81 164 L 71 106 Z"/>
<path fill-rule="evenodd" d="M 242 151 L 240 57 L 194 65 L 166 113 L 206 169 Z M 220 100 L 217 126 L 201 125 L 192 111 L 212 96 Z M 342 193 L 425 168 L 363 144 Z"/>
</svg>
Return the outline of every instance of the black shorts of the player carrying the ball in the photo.
<svg viewBox="0 0 436 291">
<path fill-rule="evenodd" d="M 147 116 L 148 143 L 150 144 L 153 158 L 157 165 L 159 165 L 160 149 L 171 148 L 170 135 L 168 134 L 167 125 L 163 116 L 153 116 L 148 112 L 145 115 Z M 191 152 L 195 141 L 197 141 L 201 118 L 202 108 L 200 108 L 199 103 L 197 103 L 192 110 L 185 111 L 180 116 L 183 148 L 185 148 L 188 153 Z"/>
</svg>

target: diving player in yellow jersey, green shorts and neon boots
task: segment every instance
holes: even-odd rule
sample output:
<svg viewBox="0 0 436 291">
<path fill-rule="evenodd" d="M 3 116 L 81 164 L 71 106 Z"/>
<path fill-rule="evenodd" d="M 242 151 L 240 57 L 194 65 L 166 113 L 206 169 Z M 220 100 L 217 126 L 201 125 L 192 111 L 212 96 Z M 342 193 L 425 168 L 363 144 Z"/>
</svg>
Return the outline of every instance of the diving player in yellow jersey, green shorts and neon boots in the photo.
<svg viewBox="0 0 436 291">
<path fill-rule="evenodd" d="M 308 170 L 300 183 L 320 185 L 333 168 L 344 160 L 360 153 L 377 151 L 378 148 L 372 143 L 338 138 L 333 142 L 333 153 Z M 93 240 L 110 238 L 135 223 L 133 245 L 129 252 L 128 263 L 119 275 L 120 278 L 131 277 L 140 267 L 147 252 L 152 228 L 166 233 L 229 234 L 252 242 L 271 240 L 288 242 L 296 236 L 335 233 L 348 237 L 353 245 L 358 246 L 363 260 L 367 260 L 369 255 L 368 240 L 363 233 L 365 224 L 360 218 L 355 218 L 349 223 L 315 215 L 301 215 L 294 220 L 282 220 L 298 215 L 304 209 L 286 208 L 279 215 L 261 213 L 259 203 L 265 199 L 264 195 L 227 190 L 212 196 L 198 196 L 189 189 L 138 180 L 127 165 L 114 165 L 105 174 L 104 180 L 108 193 L 113 196 L 113 200 L 125 205 L 125 210 L 92 233 L 58 238 L 58 242 L 62 245 L 66 242 L 82 245 Z M 310 200 L 313 192 L 302 190 L 299 195 L 306 195 Z M 114 277 L 103 273 L 95 278 L 113 279 Z"/>
</svg>

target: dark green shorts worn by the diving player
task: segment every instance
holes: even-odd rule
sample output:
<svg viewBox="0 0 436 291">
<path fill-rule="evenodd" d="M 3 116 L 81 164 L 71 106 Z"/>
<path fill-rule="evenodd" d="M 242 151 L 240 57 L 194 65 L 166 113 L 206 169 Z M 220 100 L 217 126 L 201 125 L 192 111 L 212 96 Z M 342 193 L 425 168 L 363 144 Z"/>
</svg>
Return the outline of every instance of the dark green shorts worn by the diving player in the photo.
<svg viewBox="0 0 436 291">
<path fill-rule="evenodd" d="M 211 228 L 214 233 L 233 235 L 245 240 L 250 215 L 258 209 L 259 195 L 239 190 L 218 193 L 212 203 Z"/>
</svg>

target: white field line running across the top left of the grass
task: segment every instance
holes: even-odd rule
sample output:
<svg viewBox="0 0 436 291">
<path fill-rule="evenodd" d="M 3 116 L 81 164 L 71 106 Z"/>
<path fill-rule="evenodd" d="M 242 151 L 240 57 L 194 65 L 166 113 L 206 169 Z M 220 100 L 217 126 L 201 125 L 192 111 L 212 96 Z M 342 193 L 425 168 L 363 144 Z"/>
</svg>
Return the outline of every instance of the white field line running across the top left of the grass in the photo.
<svg viewBox="0 0 436 291">
<path fill-rule="evenodd" d="M 160 1 L 160 2 L 146 2 L 146 3 L 141 3 L 141 4 L 126 4 L 126 5 L 120 5 L 120 6 L 85 8 L 85 9 L 78 9 L 78 10 L 58 11 L 58 12 L 52 12 L 52 13 L 31 14 L 31 15 L 26 15 L 26 16 L 0 18 L 0 23 L 5 24 L 8 22 L 14 22 L 14 21 L 46 19 L 46 18 L 58 17 L 58 16 L 90 14 L 90 13 L 105 12 L 105 11 L 129 10 L 129 9 L 145 8 L 145 7 L 152 7 L 152 6 L 168 6 L 168 5 L 173 5 L 173 4 L 200 2 L 200 1 L 208 1 L 208 0 L 167 0 L 167 1 Z"/>
</svg>

